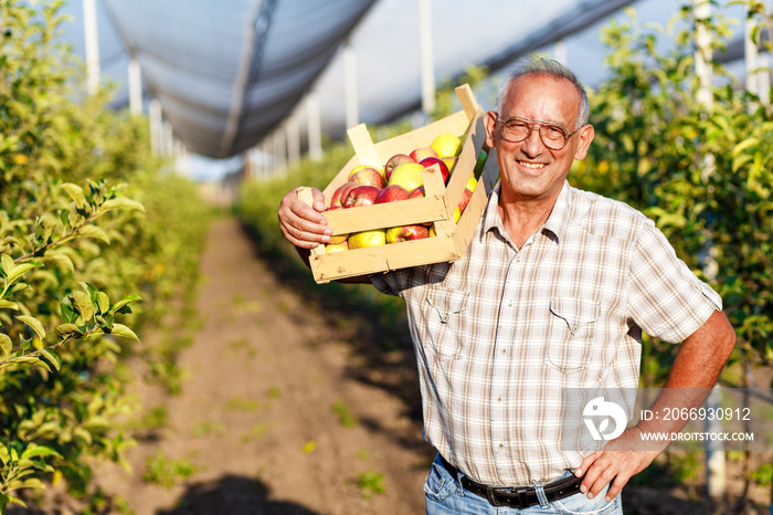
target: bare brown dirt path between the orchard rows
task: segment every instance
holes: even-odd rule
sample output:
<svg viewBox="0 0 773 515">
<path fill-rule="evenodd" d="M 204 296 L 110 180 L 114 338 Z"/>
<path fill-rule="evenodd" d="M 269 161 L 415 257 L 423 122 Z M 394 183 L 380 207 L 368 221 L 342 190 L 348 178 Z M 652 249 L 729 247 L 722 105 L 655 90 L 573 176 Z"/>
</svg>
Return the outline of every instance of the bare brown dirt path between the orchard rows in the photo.
<svg viewBox="0 0 773 515">
<path fill-rule="evenodd" d="M 181 393 L 136 385 L 167 423 L 129 451 L 133 475 L 112 467 L 98 483 L 137 515 L 423 513 L 421 427 L 399 398 L 350 377 L 358 357 L 255 259 L 236 221 L 213 222 L 201 270 Z M 159 453 L 192 475 L 144 481 Z"/>
</svg>

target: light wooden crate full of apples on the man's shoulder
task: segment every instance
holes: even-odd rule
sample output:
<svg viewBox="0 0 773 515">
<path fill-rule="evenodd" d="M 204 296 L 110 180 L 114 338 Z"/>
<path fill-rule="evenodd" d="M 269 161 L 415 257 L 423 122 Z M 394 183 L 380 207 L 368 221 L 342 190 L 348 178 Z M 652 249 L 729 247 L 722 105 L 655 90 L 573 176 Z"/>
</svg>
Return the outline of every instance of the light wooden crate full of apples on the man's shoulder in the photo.
<svg viewBox="0 0 773 515">
<path fill-rule="evenodd" d="M 462 258 L 473 238 L 480 214 L 486 206 L 488 192 L 498 179 L 496 159 L 489 157 L 478 186 L 458 223 L 454 222 L 454 210 L 464 189 L 474 174 L 478 154 L 486 150 L 484 112 L 475 101 L 468 85 L 456 88 L 463 109 L 451 116 L 400 136 L 373 144 L 364 124 L 348 130 L 354 147 L 354 156 L 338 172 L 325 189 L 326 206 L 336 189 L 346 182 L 351 170 L 359 165 L 381 168 L 395 154 L 407 154 L 414 148 L 427 147 L 441 134 L 464 137 L 458 161 L 448 180 L 443 185 L 436 166 L 423 171 L 426 196 L 374 206 L 327 211 L 325 217 L 333 234 L 432 222 L 436 237 L 412 240 L 364 249 L 351 249 L 327 254 L 319 245 L 311 251 L 309 263 L 317 283 L 356 277 L 378 272 L 388 272 L 421 264 L 451 262 Z M 310 192 L 299 191 L 299 197 L 310 203 Z"/>
</svg>

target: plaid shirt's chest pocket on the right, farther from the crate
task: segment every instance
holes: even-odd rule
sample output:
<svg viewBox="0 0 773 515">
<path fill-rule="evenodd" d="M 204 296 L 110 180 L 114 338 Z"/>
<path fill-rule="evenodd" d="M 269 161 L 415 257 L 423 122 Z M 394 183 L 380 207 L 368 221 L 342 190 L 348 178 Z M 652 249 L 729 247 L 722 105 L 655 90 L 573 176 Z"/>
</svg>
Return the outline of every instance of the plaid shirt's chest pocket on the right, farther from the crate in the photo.
<svg viewBox="0 0 773 515">
<path fill-rule="evenodd" d="M 553 297 L 550 299 L 550 313 L 546 359 L 565 374 L 586 369 L 593 357 L 601 305 L 584 298 Z"/>
</svg>

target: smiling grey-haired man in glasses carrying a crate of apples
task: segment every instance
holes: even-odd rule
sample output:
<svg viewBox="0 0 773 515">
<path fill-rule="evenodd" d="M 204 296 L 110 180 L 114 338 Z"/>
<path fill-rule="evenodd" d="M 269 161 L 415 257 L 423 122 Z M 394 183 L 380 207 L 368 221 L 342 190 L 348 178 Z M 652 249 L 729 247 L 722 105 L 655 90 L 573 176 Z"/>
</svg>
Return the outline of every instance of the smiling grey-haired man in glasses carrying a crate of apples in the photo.
<svg viewBox="0 0 773 515">
<path fill-rule="evenodd" d="M 667 445 L 636 450 L 640 433 L 681 428 L 643 421 L 601 450 L 565 450 L 562 389 L 636 388 L 646 332 L 681 343 L 656 400 L 668 406 L 676 389 L 708 392 L 734 346 L 719 295 L 650 220 L 569 186 L 593 141 L 587 116 L 571 71 L 518 62 L 485 115 L 500 180 L 464 258 L 369 277 L 406 303 L 424 438 L 438 453 L 428 514 L 623 513 L 621 488 Z M 301 255 L 331 233 L 314 196 L 311 208 L 293 190 L 278 210 Z"/>
</svg>

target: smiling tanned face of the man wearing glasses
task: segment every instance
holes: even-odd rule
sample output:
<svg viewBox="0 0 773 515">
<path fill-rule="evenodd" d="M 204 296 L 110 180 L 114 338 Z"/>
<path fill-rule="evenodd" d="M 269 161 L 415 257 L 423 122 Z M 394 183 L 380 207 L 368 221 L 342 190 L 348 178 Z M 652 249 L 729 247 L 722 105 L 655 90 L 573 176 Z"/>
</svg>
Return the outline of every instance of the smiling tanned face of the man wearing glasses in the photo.
<svg viewBox="0 0 773 515">
<path fill-rule="evenodd" d="M 528 74 L 515 80 L 502 104 L 501 114 L 485 117 L 487 143 L 497 149 L 501 172 L 501 200 L 539 200 L 553 202 L 574 159 L 583 159 L 593 140 L 593 127 L 584 126 L 560 150 L 547 148 L 539 135 L 539 124 L 522 141 L 511 143 L 501 136 L 502 120 L 522 117 L 562 125 L 574 132 L 580 96 L 565 78 Z"/>
</svg>

